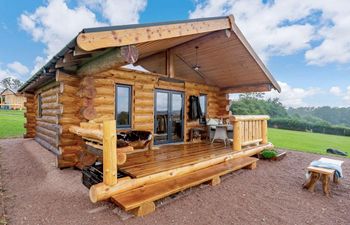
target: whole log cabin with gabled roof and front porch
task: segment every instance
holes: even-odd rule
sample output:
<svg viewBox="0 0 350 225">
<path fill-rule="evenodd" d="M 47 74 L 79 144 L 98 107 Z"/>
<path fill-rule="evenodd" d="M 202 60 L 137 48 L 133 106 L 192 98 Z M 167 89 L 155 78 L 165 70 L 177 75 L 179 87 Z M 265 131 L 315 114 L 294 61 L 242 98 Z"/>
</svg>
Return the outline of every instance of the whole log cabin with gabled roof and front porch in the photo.
<svg viewBox="0 0 350 225">
<path fill-rule="evenodd" d="M 142 216 L 160 198 L 254 169 L 251 156 L 273 147 L 268 116 L 232 115 L 228 96 L 272 89 L 280 91 L 230 15 L 84 29 L 19 92 L 24 136 L 52 151 L 59 168 L 102 162 L 90 200 Z M 211 118 L 233 127 L 228 144 L 208 141 Z M 198 129 L 205 138 L 194 141 Z M 135 134 L 147 147 L 123 142 Z"/>
</svg>

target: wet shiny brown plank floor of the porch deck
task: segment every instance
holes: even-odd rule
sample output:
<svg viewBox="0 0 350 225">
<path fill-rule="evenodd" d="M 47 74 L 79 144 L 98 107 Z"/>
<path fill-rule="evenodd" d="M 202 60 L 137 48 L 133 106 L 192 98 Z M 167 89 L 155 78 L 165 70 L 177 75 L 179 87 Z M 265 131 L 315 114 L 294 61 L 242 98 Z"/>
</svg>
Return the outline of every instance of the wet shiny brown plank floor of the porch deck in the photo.
<svg viewBox="0 0 350 225">
<path fill-rule="evenodd" d="M 232 151 L 232 147 L 225 147 L 223 143 L 163 145 L 156 150 L 128 154 L 128 160 L 118 169 L 133 178 L 140 178 L 217 158 Z"/>
</svg>

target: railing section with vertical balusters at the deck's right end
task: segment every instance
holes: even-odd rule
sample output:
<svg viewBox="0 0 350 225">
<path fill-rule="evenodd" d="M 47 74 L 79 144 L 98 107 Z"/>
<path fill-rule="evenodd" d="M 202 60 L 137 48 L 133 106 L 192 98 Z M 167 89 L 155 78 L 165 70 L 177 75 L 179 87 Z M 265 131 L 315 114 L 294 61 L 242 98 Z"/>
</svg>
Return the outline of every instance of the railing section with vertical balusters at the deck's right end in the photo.
<svg viewBox="0 0 350 225">
<path fill-rule="evenodd" d="M 267 115 L 231 116 L 233 124 L 233 150 L 240 151 L 242 147 L 252 144 L 267 144 Z"/>
</svg>

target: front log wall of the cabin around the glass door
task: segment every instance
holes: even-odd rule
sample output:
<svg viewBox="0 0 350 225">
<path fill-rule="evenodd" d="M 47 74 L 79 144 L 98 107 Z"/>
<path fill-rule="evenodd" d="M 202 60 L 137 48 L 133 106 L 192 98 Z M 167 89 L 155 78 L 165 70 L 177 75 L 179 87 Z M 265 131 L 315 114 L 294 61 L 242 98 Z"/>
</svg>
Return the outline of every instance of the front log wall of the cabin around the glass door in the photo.
<svg viewBox="0 0 350 225">
<path fill-rule="evenodd" d="M 226 94 L 217 87 L 190 82 L 170 82 L 159 79 L 161 75 L 147 74 L 129 70 L 109 70 L 93 75 L 96 96 L 93 106 L 96 116 L 89 120 L 101 123 L 106 119 L 114 119 L 115 85 L 132 86 L 132 129 L 154 132 L 154 93 L 155 89 L 181 91 L 185 97 L 184 140 L 188 141 L 190 129 L 202 126 L 198 120 L 188 119 L 189 98 L 191 95 L 207 95 L 207 117 L 228 115 L 226 106 L 229 101 Z M 164 77 L 163 77 L 164 78 Z M 81 80 L 81 83 L 84 83 Z"/>
</svg>

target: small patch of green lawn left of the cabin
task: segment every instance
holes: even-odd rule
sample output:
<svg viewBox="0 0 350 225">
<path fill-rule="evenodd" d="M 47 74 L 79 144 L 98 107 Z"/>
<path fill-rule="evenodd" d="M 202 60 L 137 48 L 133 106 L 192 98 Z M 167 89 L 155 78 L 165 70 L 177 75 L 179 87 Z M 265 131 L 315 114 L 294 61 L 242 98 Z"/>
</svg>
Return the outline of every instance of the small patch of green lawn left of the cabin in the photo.
<svg viewBox="0 0 350 225">
<path fill-rule="evenodd" d="M 0 110 L 0 138 L 23 136 L 25 119 L 23 111 Z"/>
</svg>

